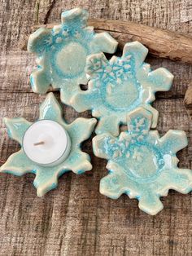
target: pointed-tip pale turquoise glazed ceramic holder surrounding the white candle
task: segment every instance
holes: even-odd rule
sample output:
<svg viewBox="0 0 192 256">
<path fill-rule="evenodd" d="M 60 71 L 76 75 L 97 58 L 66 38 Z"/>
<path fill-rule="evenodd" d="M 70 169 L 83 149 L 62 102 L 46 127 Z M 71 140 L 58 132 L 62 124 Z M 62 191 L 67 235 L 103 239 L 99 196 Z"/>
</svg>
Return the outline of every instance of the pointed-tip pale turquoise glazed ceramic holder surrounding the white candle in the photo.
<svg viewBox="0 0 192 256">
<path fill-rule="evenodd" d="M 58 166 L 39 166 L 31 161 L 24 153 L 22 141 L 25 131 L 31 126 L 31 122 L 24 118 L 5 118 L 8 134 L 11 139 L 15 139 L 21 145 L 19 152 L 15 152 L 8 158 L 7 162 L 0 168 L 3 173 L 21 176 L 26 173 L 36 175 L 34 186 L 37 188 L 37 196 L 43 196 L 46 192 L 57 187 L 58 178 L 63 173 L 72 170 L 76 174 L 91 170 L 89 155 L 81 151 L 81 142 L 88 139 L 94 130 L 96 119 L 77 118 L 71 124 L 63 120 L 62 110 L 55 96 L 50 93 L 40 107 L 39 120 L 48 119 L 57 121 L 71 139 L 71 151 L 65 161 Z"/>
</svg>

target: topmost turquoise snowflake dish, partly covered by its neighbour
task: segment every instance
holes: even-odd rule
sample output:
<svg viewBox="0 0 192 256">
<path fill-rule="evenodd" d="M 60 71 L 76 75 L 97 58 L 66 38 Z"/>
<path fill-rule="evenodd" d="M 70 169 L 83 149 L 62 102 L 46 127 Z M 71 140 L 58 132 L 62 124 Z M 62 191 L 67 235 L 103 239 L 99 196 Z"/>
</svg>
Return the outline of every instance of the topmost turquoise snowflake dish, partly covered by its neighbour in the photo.
<svg viewBox="0 0 192 256">
<path fill-rule="evenodd" d="M 34 92 L 46 93 L 50 85 L 60 89 L 65 104 L 80 84 L 87 82 L 85 60 L 87 55 L 116 51 L 117 42 L 108 33 L 94 33 L 87 27 L 88 12 L 76 8 L 64 11 L 62 24 L 53 29 L 41 28 L 28 40 L 28 51 L 37 55 L 37 68 L 31 74 Z"/>
</svg>

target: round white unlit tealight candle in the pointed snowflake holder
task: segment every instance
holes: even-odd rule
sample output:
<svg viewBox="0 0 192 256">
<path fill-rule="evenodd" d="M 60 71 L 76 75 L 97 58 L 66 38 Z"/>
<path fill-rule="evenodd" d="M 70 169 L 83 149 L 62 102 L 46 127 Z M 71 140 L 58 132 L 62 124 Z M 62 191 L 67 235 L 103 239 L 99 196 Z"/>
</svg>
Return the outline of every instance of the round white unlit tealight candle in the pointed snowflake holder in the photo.
<svg viewBox="0 0 192 256">
<path fill-rule="evenodd" d="M 55 166 L 68 157 L 71 140 L 58 122 L 40 120 L 26 130 L 23 148 L 27 157 L 38 165 Z"/>
</svg>

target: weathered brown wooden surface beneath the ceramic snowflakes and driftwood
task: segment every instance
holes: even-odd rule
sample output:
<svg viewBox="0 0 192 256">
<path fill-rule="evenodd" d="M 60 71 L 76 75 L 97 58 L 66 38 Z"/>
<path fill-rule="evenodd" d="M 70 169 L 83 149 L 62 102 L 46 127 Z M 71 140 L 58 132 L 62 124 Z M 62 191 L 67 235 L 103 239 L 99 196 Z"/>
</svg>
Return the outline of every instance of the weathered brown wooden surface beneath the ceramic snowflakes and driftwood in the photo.
<svg viewBox="0 0 192 256">
<path fill-rule="evenodd" d="M 62 10 L 86 7 L 94 18 L 130 20 L 179 33 L 192 33 L 190 0 L 49 1 L 0 0 L 0 159 L 5 161 L 19 149 L 8 139 L 2 117 L 38 117 L 45 95 L 35 95 L 28 86 L 34 57 L 20 51 L 20 43 L 34 24 L 58 22 Z M 158 129 L 185 130 L 189 147 L 179 152 L 180 166 L 192 168 L 192 127 L 184 95 L 192 81 L 192 67 L 150 58 L 152 67 L 161 65 L 176 77 L 170 92 L 159 93 Z M 59 99 L 59 94 L 56 93 Z M 77 114 L 63 107 L 72 121 Z M 113 201 L 98 192 L 99 180 L 107 174 L 106 161 L 89 152 L 94 170 L 82 175 L 64 174 L 59 188 L 38 198 L 33 175 L 18 178 L 0 175 L 0 255 L 191 255 L 191 194 L 171 191 L 164 197 L 164 210 L 155 217 L 142 213 L 137 201 L 121 196 Z"/>
</svg>

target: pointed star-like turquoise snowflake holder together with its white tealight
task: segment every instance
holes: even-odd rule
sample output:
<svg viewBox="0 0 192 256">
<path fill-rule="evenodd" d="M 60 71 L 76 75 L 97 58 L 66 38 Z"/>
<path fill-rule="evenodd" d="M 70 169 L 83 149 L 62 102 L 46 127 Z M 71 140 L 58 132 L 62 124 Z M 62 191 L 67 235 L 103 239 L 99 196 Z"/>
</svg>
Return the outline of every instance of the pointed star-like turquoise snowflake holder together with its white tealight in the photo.
<svg viewBox="0 0 192 256">
<path fill-rule="evenodd" d="M 22 117 L 5 118 L 5 123 L 10 137 L 20 143 L 21 149 L 8 158 L 0 171 L 18 176 L 35 174 L 37 196 L 56 188 L 59 176 L 69 170 L 81 174 L 92 169 L 89 155 L 81 151 L 81 143 L 91 135 L 96 119 L 77 118 L 67 124 L 52 93 L 41 104 L 35 123 Z"/>
</svg>

